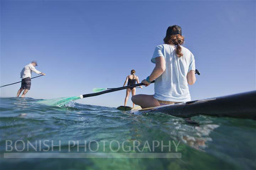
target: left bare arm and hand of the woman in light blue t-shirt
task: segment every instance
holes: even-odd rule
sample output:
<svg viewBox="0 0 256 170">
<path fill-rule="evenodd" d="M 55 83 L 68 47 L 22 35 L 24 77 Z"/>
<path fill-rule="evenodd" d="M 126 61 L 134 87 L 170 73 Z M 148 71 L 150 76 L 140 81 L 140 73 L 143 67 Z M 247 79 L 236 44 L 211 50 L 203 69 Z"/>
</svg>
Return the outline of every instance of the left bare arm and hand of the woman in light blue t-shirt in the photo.
<svg viewBox="0 0 256 170">
<path fill-rule="evenodd" d="M 153 81 L 158 78 L 165 71 L 165 58 L 164 57 L 156 57 L 156 66 L 153 72 L 149 76 L 149 81 Z M 150 85 L 148 81 L 142 80 L 142 83 L 146 84 L 145 86 Z"/>
</svg>

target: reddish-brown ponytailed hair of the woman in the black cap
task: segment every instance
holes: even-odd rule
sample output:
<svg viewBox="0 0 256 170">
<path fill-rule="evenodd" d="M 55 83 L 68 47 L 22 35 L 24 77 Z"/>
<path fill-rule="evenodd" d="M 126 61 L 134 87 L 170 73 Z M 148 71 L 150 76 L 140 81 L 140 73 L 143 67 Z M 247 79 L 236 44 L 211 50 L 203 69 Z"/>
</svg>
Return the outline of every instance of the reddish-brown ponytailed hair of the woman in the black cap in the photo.
<svg viewBox="0 0 256 170">
<path fill-rule="evenodd" d="M 178 31 L 176 27 L 172 27 L 172 31 Z M 184 43 L 184 36 L 180 35 L 180 34 L 169 34 L 166 35 L 164 38 L 164 43 L 165 44 L 170 44 L 170 45 L 175 45 L 175 51 L 178 57 L 183 56 L 183 53 L 181 52 L 181 44 Z"/>
</svg>

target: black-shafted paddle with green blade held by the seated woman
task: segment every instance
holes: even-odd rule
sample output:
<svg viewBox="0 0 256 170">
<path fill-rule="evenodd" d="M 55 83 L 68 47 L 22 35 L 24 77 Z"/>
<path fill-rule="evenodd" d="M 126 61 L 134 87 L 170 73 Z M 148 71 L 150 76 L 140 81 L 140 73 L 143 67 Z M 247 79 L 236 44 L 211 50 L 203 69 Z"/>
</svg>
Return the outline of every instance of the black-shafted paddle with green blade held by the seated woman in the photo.
<svg viewBox="0 0 256 170">
<path fill-rule="evenodd" d="M 200 72 L 198 70 L 196 70 L 195 74 L 200 75 Z M 155 80 L 152 81 L 151 83 L 155 83 Z M 98 95 L 102 95 L 102 94 L 106 94 L 106 93 L 111 93 L 111 92 L 114 92 L 114 91 L 124 90 L 124 89 L 143 86 L 143 85 L 145 85 L 145 84 L 139 83 L 139 84 L 124 86 L 124 87 L 109 89 L 109 90 L 101 91 L 101 92 L 97 92 L 97 93 L 79 95 L 79 96 L 74 96 L 74 97 L 62 97 L 62 98 L 54 98 L 54 99 L 49 99 L 49 100 L 41 100 L 41 101 L 38 101 L 38 103 L 47 104 L 47 105 L 50 105 L 50 106 L 63 106 L 64 104 L 66 104 L 68 102 L 78 100 L 80 98 L 98 96 Z"/>
</svg>

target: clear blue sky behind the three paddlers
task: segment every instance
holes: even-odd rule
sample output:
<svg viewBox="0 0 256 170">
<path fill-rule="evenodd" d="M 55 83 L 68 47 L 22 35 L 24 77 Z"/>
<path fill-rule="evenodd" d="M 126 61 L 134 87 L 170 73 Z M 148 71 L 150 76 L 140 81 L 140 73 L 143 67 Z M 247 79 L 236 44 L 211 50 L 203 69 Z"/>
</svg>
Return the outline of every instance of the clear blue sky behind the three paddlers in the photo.
<svg viewBox="0 0 256 170">
<path fill-rule="evenodd" d="M 255 1 L 1 0 L 0 5 L 0 84 L 20 81 L 20 71 L 33 60 L 46 73 L 32 80 L 26 97 L 121 87 L 131 69 L 141 81 L 154 68 L 155 46 L 174 24 L 182 27 L 184 46 L 201 72 L 190 86 L 192 100 L 255 90 Z M 0 96 L 13 97 L 19 87 L 2 87 Z M 77 102 L 117 107 L 125 93 Z M 137 94 L 153 93 L 154 85 L 137 89 Z"/>
</svg>

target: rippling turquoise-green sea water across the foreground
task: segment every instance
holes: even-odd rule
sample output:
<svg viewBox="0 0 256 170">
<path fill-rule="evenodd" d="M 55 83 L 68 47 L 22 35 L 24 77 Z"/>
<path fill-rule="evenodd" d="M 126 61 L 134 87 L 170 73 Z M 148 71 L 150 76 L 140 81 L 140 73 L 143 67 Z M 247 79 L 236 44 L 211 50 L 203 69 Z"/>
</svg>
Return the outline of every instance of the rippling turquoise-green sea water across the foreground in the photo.
<svg viewBox="0 0 256 170">
<path fill-rule="evenodd" d="M 0 169 L 256 169 L 256 122 L 255 120 L 217 118 L 209 116 L 192 117 L 194 124 L 182 118 L 161 113 L 133 115 L 118 111 L 115 108 L 92 106 L 71 102 L 63 107 L 46 106 L 33 98 L 0 98 Z M 9 140 L 9 143 L 8 141 Z M 22 140 L 23 143 L 15 141 Z M 49 151 L 39 151 L 39 141 L 53 141 L 59 146 Z M 148 141 L 149 148 L 143 152 L 134 149 L 125 152 L 118 149 L 117 142 L 125 148 L 133 147 L 139 141 L 140 151 Z M 10 150 L 12 141 L 13 150 Z M 31 145 L 27 147 L 27 141 Z M 90 149 L 70 147 L 69 141 L 91 141 Z M 97 141 L 99 144 L 96 145 Z M 105 151 L 103 151 L 103 143 Z M 110 141 L 112 145 L 110 145 Z M 163 141 L 171 149 L 155 147 L 153 141 Z M 178 142 L 180 143 L 178 144 Z M 36 143 L 37 142 L 37 143 Z M 172 143 L 178 144 L 177 151 Z M 47 141 L 46 141 L 47 143 Z M 72 142 L 71 142 L 72 143 Z M 47 143 L 50 145 L 50 142 Z M 72 143 L 73 144 L 73 143 Z M 136 142 L 135 142 L 136 144 Z M 110 149 L 112 147 L 112 151 Z M 42 149 L 47 146 L 41 143 Z M 94 152 L 97 147 L 98 151 Z M 121 146 L 122 147 L 122 146 Z M 29 151 L 27 151 L 27 149 Z M 70 151 L 69 151 L 70 149 Z M 151 151 L 150 151 L 151 150 Z M 4 154 L 21 153 L 23 158 L 4 158 Z M 46 158 L 29 158 L 27 153 Z M 57 158 L 51 153 L 72 153 L 67 158 Z M 73 158 L 74 154 L 111 153 L 102 158 Z M 116 158 L 123 153 L 150 153 L 157 157 L 158 153 L 179 153 L 181 158 Z"/>
</svg>

